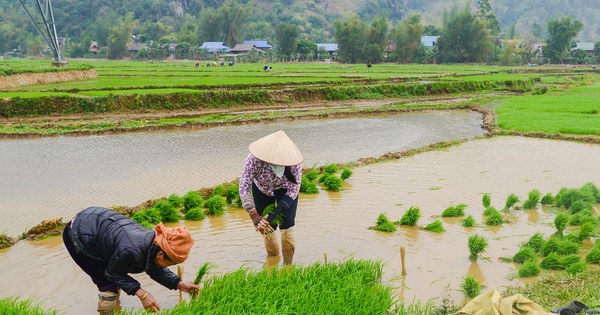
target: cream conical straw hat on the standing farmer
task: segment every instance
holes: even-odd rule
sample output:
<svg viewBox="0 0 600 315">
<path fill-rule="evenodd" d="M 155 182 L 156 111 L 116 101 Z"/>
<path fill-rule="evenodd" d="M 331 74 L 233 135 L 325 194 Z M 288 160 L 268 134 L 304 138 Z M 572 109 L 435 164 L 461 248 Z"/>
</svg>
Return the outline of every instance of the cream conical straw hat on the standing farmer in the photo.
<svg viewBox="0 0 600 315">
<path fill-rule="evenodd" d="M 257 159 L 275 165 L 293 166 L 304 161 L 302 152 L 283 130 L 250 143 L 248 150 Z"/>
</svg>

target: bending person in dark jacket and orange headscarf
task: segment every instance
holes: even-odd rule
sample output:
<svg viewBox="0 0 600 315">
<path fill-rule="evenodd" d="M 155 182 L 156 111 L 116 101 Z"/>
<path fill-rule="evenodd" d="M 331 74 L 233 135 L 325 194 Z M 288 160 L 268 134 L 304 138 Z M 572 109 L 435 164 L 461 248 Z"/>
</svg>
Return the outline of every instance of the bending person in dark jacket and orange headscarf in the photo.
<svg viewBox="0 0 600 315">
<path fill-rule="evenodd" d="M 160 310 L 154 297 L 130 273 L 146 272 L 171 290 L 198 289 L 166 268 L 184 262 L 190 253 L 194 239 L 185 227 L 168 228 L 160 223 L 150 230 L 113 210 L 90 207 L 67 223 L 63 242 L 98 287 L 100 315 L 118 311 L 119 289 L 136 295 L 144 309 Z"/>
</svg>

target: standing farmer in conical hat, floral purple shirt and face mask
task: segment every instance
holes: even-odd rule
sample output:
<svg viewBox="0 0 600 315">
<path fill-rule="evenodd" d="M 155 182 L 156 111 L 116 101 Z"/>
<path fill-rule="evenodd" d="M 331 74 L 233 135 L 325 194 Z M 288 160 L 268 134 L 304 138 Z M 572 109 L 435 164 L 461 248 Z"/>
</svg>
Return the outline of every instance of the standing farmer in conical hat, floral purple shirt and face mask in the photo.
<svg viewBox="0 0 600 315">
<path fill-rule="evenodd" d="M 262 232 L 271 262 L 273 258 L 279 261 L 279 242 L 272 233 L 279 227 L 283 263 L 290 265 L 296 248 L 294 225 L 304 157 L 282 130 L 252 142 L 248 149 L 239 185 L 242 205 Z M 275 209 L 264 214 L 273 204 Z"/>
</svg>

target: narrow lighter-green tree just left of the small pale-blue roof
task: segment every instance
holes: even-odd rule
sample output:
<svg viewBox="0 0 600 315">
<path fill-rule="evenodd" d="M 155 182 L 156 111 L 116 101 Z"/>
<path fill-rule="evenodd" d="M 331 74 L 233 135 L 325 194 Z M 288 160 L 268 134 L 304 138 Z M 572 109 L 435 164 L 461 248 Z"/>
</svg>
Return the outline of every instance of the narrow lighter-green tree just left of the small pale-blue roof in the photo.
<svg viewBox="0 0 600 315">
<path fill-rule="evenodd" d="M 392 41 L 396 44 L 396 61 L 413 62 L 421 47 L 421 36 L 425 27 L 421 24 L 421 16 L 411 15 L 402 20 L 392 30 Z"/>
</svg>

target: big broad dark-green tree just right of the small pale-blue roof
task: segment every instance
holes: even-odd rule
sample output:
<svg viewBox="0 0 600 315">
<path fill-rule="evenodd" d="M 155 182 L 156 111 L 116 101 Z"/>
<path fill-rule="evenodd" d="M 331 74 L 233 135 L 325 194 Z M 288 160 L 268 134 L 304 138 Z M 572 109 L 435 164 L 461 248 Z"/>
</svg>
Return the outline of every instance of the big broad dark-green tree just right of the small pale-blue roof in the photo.
<svg viewBox="0 0 600 315">
<path fill-rule="evenodd" d="M 471 14 L 468 4 L 459 12 L 444 12 L 444 34 L 438 39 L 441 62 L 482 62 L 494 52 L 487 23 Z"/>
</svg>

